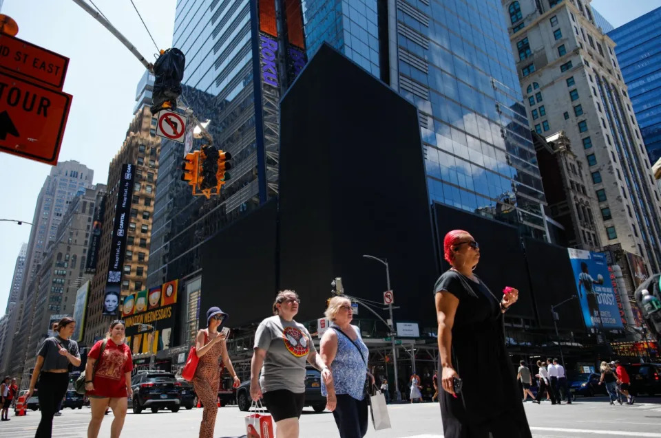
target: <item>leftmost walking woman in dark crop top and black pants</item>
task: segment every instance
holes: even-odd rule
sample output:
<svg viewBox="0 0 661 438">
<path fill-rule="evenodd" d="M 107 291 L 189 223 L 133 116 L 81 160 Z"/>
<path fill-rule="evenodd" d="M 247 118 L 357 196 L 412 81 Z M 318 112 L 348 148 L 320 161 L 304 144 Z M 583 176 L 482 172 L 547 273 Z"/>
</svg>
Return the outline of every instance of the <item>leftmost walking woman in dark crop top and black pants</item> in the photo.
<svg viewBox="0 0 661 438">
<path fill-rule="evenodd" d="M 53 416 L 69 387 L 69 366 L 80 366 L 81 355 L 78 344 L 71 340 L 76 329 L 76 321 L 62 318 L 57 323 L 56 336 L 47 338 L 41 344 L 36 356 L 36 364 L 30 379 L 30 389 L 25 399 L 34 393 L 39 378 L 39 409 L 41 421 L 35 438 L 50 438 L 53 429 Z"/>
</svg>

